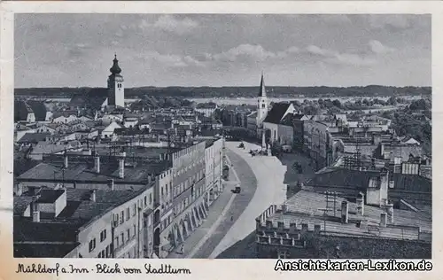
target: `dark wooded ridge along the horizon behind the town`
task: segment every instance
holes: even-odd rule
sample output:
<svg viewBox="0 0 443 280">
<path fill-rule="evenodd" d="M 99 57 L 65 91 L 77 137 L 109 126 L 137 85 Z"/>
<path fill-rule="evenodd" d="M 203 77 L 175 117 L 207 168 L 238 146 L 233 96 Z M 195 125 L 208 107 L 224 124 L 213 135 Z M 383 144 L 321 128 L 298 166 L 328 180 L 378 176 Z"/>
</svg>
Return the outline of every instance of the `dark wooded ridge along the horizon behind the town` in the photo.
<svg viewBox="0 0 443 280">
<path fill-rule="evenodd" d="M 90 88 L 15 89 L 16 96 L 72 97 Z M 141 87 L 125 89 L 125 97 L 256 97 L 259 87 Z M 268 97 L 390 97 L 431 95 L 431 87 L 267 87 Z"/>
</svg>

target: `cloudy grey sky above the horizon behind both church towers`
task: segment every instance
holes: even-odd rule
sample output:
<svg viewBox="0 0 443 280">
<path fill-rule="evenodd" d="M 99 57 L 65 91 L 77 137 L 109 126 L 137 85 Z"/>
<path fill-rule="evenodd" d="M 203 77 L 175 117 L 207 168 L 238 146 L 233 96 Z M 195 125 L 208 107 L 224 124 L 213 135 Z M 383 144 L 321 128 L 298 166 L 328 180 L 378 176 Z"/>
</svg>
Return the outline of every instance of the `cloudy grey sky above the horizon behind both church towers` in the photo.
<svg viewBox="0 0 443 280">
<path fill-rule="evenodd" d="M 15 87 L 431 85 L 431 15 L 16 14 Z"/>
</svg>

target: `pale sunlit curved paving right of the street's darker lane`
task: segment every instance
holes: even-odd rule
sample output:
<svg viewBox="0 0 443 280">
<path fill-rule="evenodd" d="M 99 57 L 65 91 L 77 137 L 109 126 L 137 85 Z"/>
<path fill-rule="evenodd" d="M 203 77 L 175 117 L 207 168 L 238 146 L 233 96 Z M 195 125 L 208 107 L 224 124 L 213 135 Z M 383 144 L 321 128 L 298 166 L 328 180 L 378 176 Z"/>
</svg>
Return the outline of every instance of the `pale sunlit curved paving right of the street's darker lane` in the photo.
<svg viewBox="0 0 443 280">
<path fill-rule="evenodd" d="M 255 229 L 255 218 L 268 206 L 283 204 L 286 198 L 286 185 L 284 184 L 286 167 L 282 165 L 280 160 L 268 156 L 252 157 L 249 151 L 260 149 L 258 145 L 244 142 L 245 149 L 239 149 L 237 148 L 238 144 L 239 142 L 226 142 L 228 156 L 230 153 L 235 153 L 245 160 L 257 179 L 257 189 L 245 211 L 240 214 L 237 221 L 209 255 L 210 259 L 216 258 L 231 245 L 247 237 Z"/>
</svg>

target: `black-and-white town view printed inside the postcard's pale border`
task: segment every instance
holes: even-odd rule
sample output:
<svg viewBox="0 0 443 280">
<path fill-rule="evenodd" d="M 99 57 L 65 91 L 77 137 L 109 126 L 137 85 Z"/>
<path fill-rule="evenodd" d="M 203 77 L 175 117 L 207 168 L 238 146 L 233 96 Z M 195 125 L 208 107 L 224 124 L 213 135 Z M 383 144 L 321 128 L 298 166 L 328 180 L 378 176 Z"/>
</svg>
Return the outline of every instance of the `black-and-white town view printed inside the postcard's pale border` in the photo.
<svg viewBox="0 0 443 280">
<path fill-rule="evenodd" d="M 432 258 L 431 14 L 13 24 L 14 258 Z"/>
</svg>

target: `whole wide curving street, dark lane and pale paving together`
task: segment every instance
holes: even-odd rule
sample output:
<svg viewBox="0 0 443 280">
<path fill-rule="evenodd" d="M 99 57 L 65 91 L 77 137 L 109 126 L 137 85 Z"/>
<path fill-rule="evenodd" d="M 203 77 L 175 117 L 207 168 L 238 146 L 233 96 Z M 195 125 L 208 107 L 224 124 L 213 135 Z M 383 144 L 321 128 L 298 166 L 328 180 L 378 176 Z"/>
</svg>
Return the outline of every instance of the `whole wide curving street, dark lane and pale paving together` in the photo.
<svg viewBox="0 0 443 280">
<path fill-rule="evenodd" d="M 260 149 L 256 144 L 227 142 L 226 154 L 232 164 L 229 181 L 221 196 L 210 206 L 205 222 L 195 229 L 183 243 L 183 253 L 173 252 L 168 258 L 215 258 L 231 245 L 247 237 L 255 229 L 255 218 L 271 204 L 281 204 L 286 198 L 286 183 L 299 180 L 292 168 L 297 161 L 303 167 L 303 179 L 314 172 L 309 160 L 299 154 L 284 154 L 282 159 L 249 154 Z M 283 163 L 283 164 L 282 164 Z M 230 191 L 240 183 L 242 191 Z M 177 248 L 177 251 L 180 249 Z"/>
</svg>

